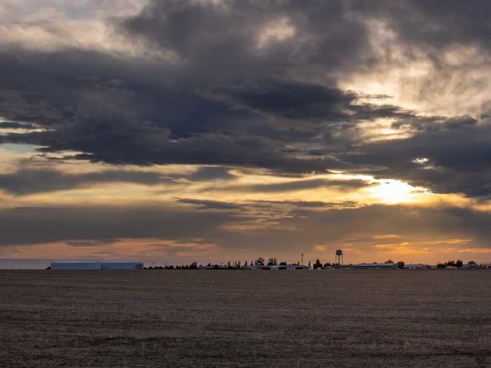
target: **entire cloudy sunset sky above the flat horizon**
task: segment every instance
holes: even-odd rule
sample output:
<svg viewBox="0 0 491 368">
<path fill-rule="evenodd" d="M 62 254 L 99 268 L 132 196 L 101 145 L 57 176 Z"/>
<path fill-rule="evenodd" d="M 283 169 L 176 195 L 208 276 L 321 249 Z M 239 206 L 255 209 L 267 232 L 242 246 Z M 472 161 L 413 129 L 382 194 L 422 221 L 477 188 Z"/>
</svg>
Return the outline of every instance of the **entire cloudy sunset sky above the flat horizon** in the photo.
<svg viewBox="0 0 491 368">
<path fill-rule="evenodd" d="M 1 1 L 0 267 L 491 262 L 490 11 Z"/>
</svg>

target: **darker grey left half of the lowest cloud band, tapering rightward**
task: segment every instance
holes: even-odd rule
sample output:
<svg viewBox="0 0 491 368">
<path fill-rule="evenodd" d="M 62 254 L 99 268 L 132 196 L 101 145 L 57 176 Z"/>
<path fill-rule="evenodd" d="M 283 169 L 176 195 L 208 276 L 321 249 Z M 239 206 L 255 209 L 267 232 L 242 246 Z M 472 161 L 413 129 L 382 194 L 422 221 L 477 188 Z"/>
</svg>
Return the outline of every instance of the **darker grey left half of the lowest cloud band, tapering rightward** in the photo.
<svg viewBox="0 0 491 368">
<path fill-rule="evenodd" d="M 190 212 L 175 205 L 161 207 L 19 207 L 0 210 L 0 245 L 57 241 L 99 241 L 116 238 L 192 240 L 216 235 L 215 226 L 239 214 Z M 190 231 L 190 226 L 193 231 Z M 26 231 L 29 229 L 29 231 Z"/>
</svg>

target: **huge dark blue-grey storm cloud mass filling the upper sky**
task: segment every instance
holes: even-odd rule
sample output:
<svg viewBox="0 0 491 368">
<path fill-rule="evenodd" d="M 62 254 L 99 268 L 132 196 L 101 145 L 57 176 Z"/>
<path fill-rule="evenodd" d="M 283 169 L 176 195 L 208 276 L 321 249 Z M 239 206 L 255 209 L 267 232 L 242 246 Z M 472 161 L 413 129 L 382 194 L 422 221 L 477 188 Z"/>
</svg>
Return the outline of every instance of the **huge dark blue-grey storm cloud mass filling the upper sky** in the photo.
<svg viewBox="0 0 491 368">
<path fill-rule="evenodd" d="M 367 96 L 337 81 L 386 65 L 372 49 L 372 21 L 396 34 L 407 57 L 425 53 L 445 71 L 442 48 L 489 50 L 489 8 L 485 1 L 149 1 L 141 13 L 112 20 L 114 32 L 167 58 L 76 45 L 1 48 L 0 116 L 46 131 L 0 135 L 0 142 L 81 151 L 74 158 L 113 164 L 296 174 L 383 166 L 379 175 L 435 191 L 487 195 L 489 125 L 361 103 Z M 365 144 L 356 124 L 377 118 L 415 136 Z M 439 171 L 412 163 L 419 157 Z M 228 175 L 206 170 L 190 179 Z M 22 191 L 14 187 L 7 190 Z"/>
</svg>

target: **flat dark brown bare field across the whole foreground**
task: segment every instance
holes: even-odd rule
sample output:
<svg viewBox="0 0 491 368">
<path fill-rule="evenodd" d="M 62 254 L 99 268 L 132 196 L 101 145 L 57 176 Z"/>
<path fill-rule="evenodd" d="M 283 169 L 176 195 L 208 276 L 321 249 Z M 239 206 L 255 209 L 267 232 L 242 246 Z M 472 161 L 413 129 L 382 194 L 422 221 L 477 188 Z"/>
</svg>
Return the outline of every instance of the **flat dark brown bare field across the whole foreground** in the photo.
<svg viewBox="0 0 491 368">
<path fill-rule="evenodd" d="M 0 367 L 491 367 L 491 271 L 0 271 Z"/>
</svg>

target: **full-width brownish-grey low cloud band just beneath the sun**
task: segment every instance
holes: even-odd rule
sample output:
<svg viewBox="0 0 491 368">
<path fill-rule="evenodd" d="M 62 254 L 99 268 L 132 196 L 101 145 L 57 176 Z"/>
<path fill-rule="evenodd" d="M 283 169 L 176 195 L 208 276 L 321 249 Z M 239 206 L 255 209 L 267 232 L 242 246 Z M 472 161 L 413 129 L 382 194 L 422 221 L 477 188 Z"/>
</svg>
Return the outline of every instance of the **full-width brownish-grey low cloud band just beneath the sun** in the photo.
<svg viewBox="0 0 491 368">
<path fill-rule="evenodd" d="M 246 211 L 248 205 L 243 204 Z M 268 210 L 264 203 L 258 205 L 271 212 L 270 216 L 278 214 L 276 210 Z M 267 256 L 278 252 L 312 252 L 314 245 L 327 242 L 335 246 L 349 239 L 356 241 L 384 233 L 398 234 L 403 239 L 414 236 L 414 229 L 429 241 L 442 236 L 446 239 L 471 238 L 473 248 L 487 247 L 491 238 L 489 213 L 452 207 L 374 205 L 311 210 L 300 205 L 288 208 L 283 216 L 276 215 L 272 226 L 233 231 L 227 226 L 264 224 L 262 221 L 267 213 L 238 214 L 235 208 L 224 206 L 220 209 L 218 203 L 211 207 L 200 203 L 196 206 L 193 212 L 172 204 L 160 208 L 20 207 L 0 210 L 0 246 L 69 242 L 74 247 L 88 247 L 92 243 L 114 243 L 120 238 L 158 238 L 186 243 L 194 242 L 199 234 L 201 243 L 215 243 L 223 254 L 236 254 L 237 250 L 245 249 L 248 254 Z M 358 244 L 357 247 L 365 252 L 374 251 L 372 243 Z M 427 247 L 431 250 L 432 245 Z"/>
</svg>

